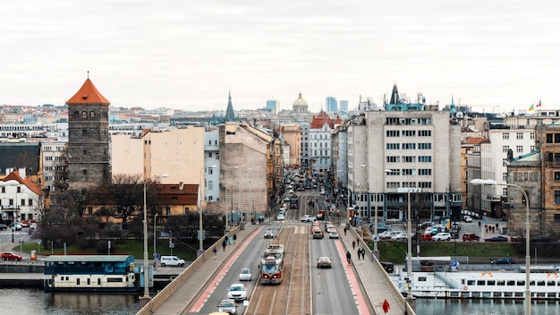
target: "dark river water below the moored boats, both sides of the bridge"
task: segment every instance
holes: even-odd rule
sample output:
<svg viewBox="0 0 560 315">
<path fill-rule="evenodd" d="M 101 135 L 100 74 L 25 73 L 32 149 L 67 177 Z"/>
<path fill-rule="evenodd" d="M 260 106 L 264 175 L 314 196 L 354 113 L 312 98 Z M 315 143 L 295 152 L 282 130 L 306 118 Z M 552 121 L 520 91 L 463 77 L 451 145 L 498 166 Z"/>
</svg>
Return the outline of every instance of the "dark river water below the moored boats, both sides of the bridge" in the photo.
<svg viewBox="0 0 560 315">
<path fill-rule="evenodd" d="M 133 315 L 140 311 L 135 294 L 47 294 L 40 289 L 0 289 L 0 305 L 18 315 Z M 533 314 L 560 314 L 560 301 L 533 301 Z M 517 315 L 522 300 L 417 299 L 418 315 Z M 4 312 L 0 312 L 4 313 Z"/>
</svg>

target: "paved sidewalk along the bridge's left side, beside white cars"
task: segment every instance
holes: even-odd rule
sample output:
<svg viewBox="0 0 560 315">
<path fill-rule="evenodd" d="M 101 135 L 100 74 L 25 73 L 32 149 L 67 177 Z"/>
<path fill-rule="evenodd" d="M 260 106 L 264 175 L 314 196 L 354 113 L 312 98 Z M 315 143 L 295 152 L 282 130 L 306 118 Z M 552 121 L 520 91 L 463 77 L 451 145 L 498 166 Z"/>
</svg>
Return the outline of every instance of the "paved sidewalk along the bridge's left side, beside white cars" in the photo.
<svg viewBox="0 0 560 315">
<path fill-rule="evenodd" d="M 237 242 L 227 245 L 225 251 L 222 248 L 222 239 L 220 239 L 218 243 L 216 243 L 216 260 L 213 256 L 210 256 L 212 258 L 204 261 L 200 268 L 183 282 L 182 285 L 174 291 L 174 294 L 169 296 L 161 306 L 153 310 L 151 314 L 171 315 L 184 313 L 189 303 L 194 301 L 199 291 L 206 286 L 208 281 L 220 269 L 220 266 L 224 264 L 225 260 L 237 250 L 237 247 L 240 246 L 250 234 L 258 230 L 259 227 L 262 227 L 262 225 L 248 224 L 245 225 L 244 230 L 236 231 Z M 206 251 L 212 251 L 212 248 L 214 248 L 214 246 L 211 246 Z"/>
</svg>

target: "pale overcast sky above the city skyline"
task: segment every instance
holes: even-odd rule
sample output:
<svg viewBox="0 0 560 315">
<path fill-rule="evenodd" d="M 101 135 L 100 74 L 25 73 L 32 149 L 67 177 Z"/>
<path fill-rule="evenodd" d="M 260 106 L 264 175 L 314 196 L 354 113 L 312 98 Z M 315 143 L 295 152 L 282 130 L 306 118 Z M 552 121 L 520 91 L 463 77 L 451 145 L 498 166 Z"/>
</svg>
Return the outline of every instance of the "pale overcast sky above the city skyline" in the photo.
<svg viewBox="0 0 560 315">
<path fill-rule="evenodd" d="M 310 111 L 325 98 L 560 108 L 560 5 L 540 0 L 25 0 L 0 9 L 0 104 Z M 489 107 L 496 106 L 496 107 Z M 478 107 L 473 107 L 478 109 Z M 497 109 L 496 109 L 497 108 Z M 491 111 L 488 110 L 488 111 Z"/>
</svg>

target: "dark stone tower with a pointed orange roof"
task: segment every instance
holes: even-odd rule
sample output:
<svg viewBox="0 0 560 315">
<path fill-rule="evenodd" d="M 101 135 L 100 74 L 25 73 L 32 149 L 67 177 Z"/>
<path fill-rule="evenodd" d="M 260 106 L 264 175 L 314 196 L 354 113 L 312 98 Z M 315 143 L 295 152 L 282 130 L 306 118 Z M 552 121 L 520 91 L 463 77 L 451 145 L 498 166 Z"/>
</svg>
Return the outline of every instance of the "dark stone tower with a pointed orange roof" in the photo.
<svg viewBox="0 0 560 315">
<path fill-rule="evenodd" d="M 67 102 L 68 176 L 72 189 L 111 181 L 109 101 L 89 80 Z"/>
</svg>

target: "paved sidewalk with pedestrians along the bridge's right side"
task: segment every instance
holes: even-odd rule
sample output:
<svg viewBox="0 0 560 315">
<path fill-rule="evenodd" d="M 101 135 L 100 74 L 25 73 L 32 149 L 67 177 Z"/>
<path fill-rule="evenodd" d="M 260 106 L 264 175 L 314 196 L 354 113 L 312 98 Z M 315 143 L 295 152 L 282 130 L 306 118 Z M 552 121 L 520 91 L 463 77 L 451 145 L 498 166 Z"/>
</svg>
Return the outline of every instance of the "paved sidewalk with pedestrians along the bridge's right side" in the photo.
<svg viewBox="0 0 560 315">
<path fill-rule="evenodd" d="M 398 297 L 395 297 L 395 292 L 389 289 L 388 285 L 386 284 L 387 279 L 389 277 L 386 274 L 380 274 L 379 272 L 385 273 L 385 270 L 379 270 L 376 268 L 375 262 L 373 259 L 373 253 L 369 250 L 366 243 L 358 237 L 358 234 L 355 232 L 354 228 L 352 227 L 349 231 L 346 232 L 344 235 L 344 223 L 341 226 L 338 226 L 339 235 L 341 240 L 343 241 L 344 247 L 346 251 L 350 251 L 352 254 L 352 266 L 358 277 L 360 278 L 361 285 L 363 286 L 364 290 L 366 291 L 367 298 L 371 305 L 373 306 L 375 314 L 383 314 L 383 309 L 381 308 L 383 302 L 387 300 L 391 305 L 391 310 L 388 314 L 403 314 L 405 310 L 403 309 L 403 302 L 397 300 L 397 298 L 402 298 L 402 295 L 398 293 Z M 341 233 L 342 231 L 342 233 Z M 352 241 L 356 242 L 356 248 L 352 250 Z M 358 250 L 364 248 L 366 250 L 366 255 L 364 260 L 358 259 Z M 391 281 L 390 279 L 388 281 Z"/>
</svg>

